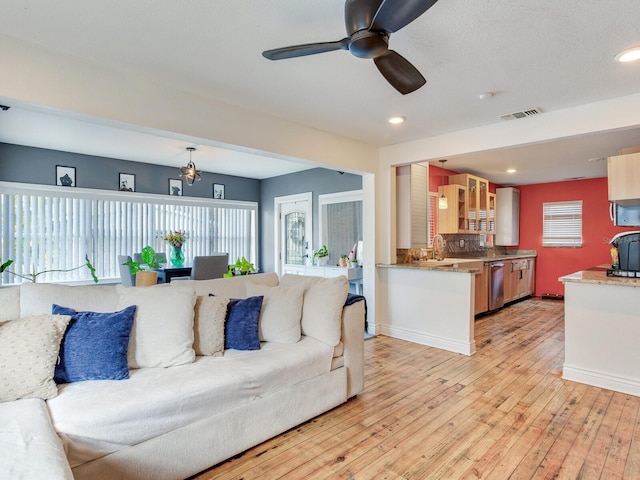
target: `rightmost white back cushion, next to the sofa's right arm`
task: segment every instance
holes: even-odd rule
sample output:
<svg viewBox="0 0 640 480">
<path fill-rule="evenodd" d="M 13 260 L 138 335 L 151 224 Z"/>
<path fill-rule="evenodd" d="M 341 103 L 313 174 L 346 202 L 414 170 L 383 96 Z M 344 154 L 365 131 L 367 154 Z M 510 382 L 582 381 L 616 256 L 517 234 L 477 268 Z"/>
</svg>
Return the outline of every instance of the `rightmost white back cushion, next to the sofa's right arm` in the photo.
<svg viewBox="0 0 640 480">
<path fill-rule="evenodd" d="M 282 287 L 304 288 L 302 334 L 335 347 L 342 336 L 342 308 L 349 293 L 347 277 L 284 275 Z"/>
</svg>

